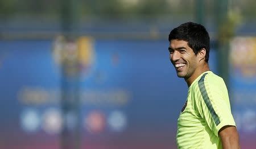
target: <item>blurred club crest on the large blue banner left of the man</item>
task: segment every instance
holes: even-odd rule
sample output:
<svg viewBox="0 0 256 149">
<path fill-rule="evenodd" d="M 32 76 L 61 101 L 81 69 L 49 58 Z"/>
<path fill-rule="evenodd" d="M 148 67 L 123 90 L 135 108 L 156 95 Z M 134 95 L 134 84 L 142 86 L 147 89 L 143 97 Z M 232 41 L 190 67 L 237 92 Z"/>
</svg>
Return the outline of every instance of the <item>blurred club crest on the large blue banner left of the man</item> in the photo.
<svg viewBox="0 0 256 149">
<path fill-rule="evenodd" d="M 67 40 L 57 36 L 53 43 L 53 59 L 59 64 L 67 77 L 88 77 L 95 62 L 93 39 L 80 37 Z"/>
</svg>

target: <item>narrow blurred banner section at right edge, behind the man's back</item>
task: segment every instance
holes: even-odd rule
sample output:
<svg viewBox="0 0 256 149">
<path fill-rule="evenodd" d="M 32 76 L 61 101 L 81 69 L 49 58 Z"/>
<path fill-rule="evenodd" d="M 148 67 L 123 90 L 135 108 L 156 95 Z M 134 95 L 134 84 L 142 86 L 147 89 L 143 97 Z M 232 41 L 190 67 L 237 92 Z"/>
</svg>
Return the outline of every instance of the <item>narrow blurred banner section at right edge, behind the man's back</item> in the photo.
<svg viewBox="0 0 256 149">
<path fill-rule="evenodd" d="M 237 37 L 230 45 L 230 99 L 242 148 L 256 147 L 256 38 Z"/>
</svg>

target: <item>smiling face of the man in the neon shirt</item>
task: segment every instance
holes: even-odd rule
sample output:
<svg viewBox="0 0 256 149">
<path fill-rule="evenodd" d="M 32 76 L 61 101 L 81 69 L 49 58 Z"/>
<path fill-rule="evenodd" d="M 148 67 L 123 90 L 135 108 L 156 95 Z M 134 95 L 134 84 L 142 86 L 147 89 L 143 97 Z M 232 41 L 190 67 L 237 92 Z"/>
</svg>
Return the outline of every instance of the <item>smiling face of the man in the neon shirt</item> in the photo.
<svg viewBox="0 0 256 149">
<path fill-rule="evenodd" d="M 184 40 L 171 40 L 170 42 L 170 60 L 176 69 L 177 76 L 185 79 L 190 78 L 196 71 L 199 64 L 199 58 L 188 46 Z"/>
</svg>

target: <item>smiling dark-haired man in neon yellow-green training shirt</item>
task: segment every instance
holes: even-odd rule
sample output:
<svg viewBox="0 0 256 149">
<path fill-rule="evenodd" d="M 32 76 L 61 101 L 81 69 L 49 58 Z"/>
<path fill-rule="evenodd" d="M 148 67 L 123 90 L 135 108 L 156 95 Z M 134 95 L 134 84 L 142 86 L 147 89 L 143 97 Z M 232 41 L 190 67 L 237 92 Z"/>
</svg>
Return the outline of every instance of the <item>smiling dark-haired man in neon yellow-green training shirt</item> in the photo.
<svg viewBox="0 0 256 149">
<path fill-rule="evenodd" d="M 188 85 L 188 97 L 177 120 L 178 148 L 240 148 L 228 90 L 210 71 L 210 38 L 204 26 L 184 23 L 169 35 L 170 60 Z"/>
</svg>

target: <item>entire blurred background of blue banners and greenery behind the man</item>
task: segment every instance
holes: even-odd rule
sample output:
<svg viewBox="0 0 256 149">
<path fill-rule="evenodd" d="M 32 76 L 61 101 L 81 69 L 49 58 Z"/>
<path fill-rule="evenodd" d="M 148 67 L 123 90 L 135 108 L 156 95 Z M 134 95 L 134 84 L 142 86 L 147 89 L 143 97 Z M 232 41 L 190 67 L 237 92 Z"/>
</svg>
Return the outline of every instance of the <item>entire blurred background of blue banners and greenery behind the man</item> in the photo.
<svg viewBox="0 0 256 149">
<path fill-rule="evenodd" d="M 242 148 L 256 143 L 253 0 L 0 1 L 0 148 L 177 148 L 168 34 L 204 24 Z"/>
</svg>

